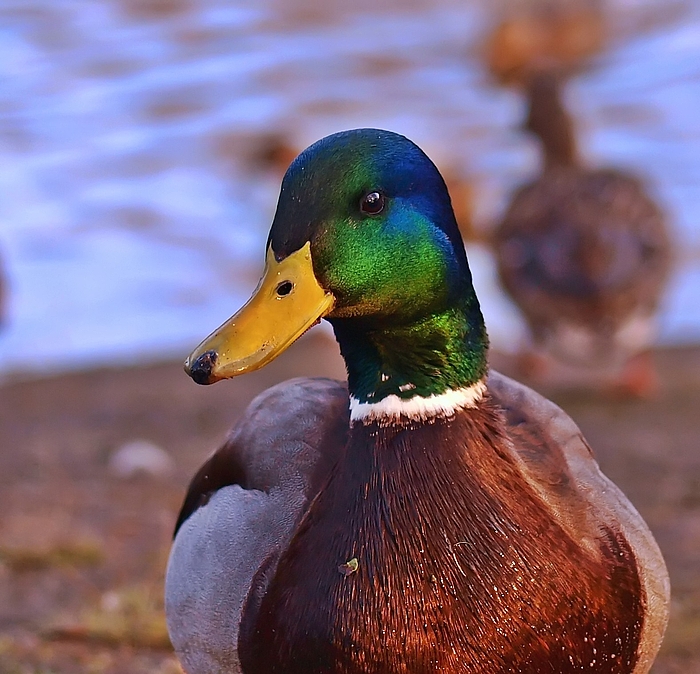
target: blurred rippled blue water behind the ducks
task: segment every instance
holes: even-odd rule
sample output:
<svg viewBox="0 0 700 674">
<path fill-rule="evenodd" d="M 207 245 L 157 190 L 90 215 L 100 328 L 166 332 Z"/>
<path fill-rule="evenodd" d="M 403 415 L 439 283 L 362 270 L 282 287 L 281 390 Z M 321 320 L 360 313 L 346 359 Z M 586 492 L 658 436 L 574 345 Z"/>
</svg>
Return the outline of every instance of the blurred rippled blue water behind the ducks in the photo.
<svg viewBox="0 0 700 674">
<path fill-rule="evenodd" d="M 260 272 L 279 175 L 255 158 L 272 132 L 299 150 L 344 128 L 404 133 L 472 183 L 488 228 L 537 166 L 521 99 L 479 58 L 489 3 L 395 4 L 3 0 L 0 369 L 182 356 L 225 319 Z M 567 91 L 586 159 L 645 175 L 672 219 L 667 343 L 700 338 L 695 4 L 620 31 Z M 620 0 L 611 20 L 642 10 Z M 512 347 L 490 256 L 470 260 L 493 341 Z"/>
</svg>

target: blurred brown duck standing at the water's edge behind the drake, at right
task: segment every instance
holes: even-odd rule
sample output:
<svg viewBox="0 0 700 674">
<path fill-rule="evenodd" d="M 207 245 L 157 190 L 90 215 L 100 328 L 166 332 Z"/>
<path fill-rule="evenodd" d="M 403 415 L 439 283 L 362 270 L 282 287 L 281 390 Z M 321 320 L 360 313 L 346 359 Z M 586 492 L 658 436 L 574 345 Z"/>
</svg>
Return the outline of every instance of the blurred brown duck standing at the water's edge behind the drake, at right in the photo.
<svg viewBox="0 0 700 674">
<path fill-rule="evenodd" d="M 494 242 L 501 282 L 536 349 L 613 373 L 612 386 L 654 386 L 646 350 L 671 264 L 661 209 L 635 176 L 581 166 L 555 75 L 530 81 L 526 128 L 542 174 L 513 196 Z"/>
</svg>

